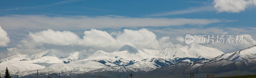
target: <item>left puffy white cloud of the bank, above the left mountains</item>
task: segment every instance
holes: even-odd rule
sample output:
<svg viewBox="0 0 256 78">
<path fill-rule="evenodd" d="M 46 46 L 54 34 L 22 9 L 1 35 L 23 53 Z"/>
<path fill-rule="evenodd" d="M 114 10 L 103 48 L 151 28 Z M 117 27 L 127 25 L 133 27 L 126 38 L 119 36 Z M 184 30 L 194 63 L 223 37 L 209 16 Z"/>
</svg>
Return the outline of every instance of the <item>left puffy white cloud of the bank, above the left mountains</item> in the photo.
<svg viewBox="0 0 256 78">
<path fill-rule="evenodd" d="M 47 43 L 54 45 L 72 45 L 80 41 L 79 36 L 70 31 L 53 31 L 47 29 L 37 33 L 29 33 L 29 38 L 35 43 Z"/>
</svg>

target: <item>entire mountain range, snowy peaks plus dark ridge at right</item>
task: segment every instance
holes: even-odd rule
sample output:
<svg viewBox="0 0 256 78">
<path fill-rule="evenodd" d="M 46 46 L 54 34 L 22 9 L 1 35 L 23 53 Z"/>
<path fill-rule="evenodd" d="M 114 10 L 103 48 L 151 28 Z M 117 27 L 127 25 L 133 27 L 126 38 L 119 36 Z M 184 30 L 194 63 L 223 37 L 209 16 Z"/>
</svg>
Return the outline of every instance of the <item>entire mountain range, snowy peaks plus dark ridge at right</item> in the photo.
<svg viewBox="0 0 256 78">
<path fill-rule="evenodd" d="M 157 75 L 164 77 L 189 72 L 198 74 L 219 72 L 219 70 L 223 73 L 243 69 L 238 67 L 244 65 L 254 71 L 255 68 L 250 65 L 254 65 L 255 51 L 256 47 L 253 46 L 223 53 L 218 49 L 195 43 L 183 48 L 160 50 L 137 49 L 124 45 L 111 53 L 98 50 L 93 54 L 82 52 L 64 54 L 50 49 L 35 55 L 14 55 L 3 58 L 0 60 L 0 72 L 4 75 L 4 70 L 8 67 L 12 75 L 20 75 L 23 78 L 36 76 L 36 70 L 41 76 L 61 73 L 63 77 L 90 78 L 99 75 L 111 78 L 127 77 L 126 75 L 130 73 L 136 77 L 158 77 Z"/>
</svg>

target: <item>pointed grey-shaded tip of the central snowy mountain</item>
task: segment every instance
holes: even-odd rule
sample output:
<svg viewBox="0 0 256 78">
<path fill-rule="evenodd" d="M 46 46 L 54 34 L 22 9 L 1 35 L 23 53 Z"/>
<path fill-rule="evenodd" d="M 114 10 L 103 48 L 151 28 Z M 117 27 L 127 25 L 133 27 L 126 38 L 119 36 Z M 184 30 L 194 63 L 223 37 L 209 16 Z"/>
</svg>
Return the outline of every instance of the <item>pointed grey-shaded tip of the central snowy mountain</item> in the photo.
<svg viewBox="0 0 256 78">
<path fill-rule="evenodd" d="M 139 52 L 139 50 L 137 48 L 127 45 L 127 44 L 125 44 L 123 47 L 118 49 L 116 52 L 119 52 L 119 51 L 128 51 L 129 53 L 138 53 Z"/>
</svg>

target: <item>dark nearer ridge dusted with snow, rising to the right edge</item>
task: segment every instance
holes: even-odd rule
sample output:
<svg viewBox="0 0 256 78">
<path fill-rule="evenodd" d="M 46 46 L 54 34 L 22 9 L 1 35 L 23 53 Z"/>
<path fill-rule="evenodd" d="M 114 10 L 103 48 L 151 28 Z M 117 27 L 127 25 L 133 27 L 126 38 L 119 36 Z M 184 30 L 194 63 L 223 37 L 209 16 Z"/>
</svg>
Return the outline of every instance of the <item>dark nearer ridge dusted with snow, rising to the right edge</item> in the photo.
<svg viewBox="0 0 256 78">
<path fill-rule="evenodd" d="M 189 75 L 191 72 L 194 72 L 195 74 L 218 72 L 219 76 L 223 76 L 233 75 L 234 73 L 230 72 L 237 71 L 248 71 L 248 73 L 255 74 L 256 46 L 225 53 L 211 59 L 200 60 L 197 62 L 178 62 L 170 64 L 136 77 L 165 77 L 171 75 L 172 77 L 179 78 L 184 74 Z"/>
</svg>

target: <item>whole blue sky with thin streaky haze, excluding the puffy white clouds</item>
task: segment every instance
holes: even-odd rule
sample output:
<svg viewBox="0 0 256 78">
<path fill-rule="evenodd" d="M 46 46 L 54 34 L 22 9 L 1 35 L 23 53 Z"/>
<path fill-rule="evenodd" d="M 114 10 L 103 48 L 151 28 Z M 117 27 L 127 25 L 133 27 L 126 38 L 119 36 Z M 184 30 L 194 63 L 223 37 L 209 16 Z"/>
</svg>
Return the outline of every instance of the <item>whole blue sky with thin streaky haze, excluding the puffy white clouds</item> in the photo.
<svg viewBox="0 0 256 78">
<path fill-rule="evenodd" d="M 231 49 L 221 49 L 225 45 L 202 44 L 223 52 L 232 52 L 255 45 L 256 0 L 231 0 L 227 3 L 223 4 L 223 0 L 1 0 L 0 26 L 7 32 L 10 42 L 0 46 L 0 53 L 8 56 L 35 54 L 47 49 L 59 49 L 67 53 L 70 51 L 92 53 L 100 49 L 111 52 L 114 51 L 113 49 L 118 49 L 118 47 L 109 48 L 102 47 L 103 45 L 89 45 L 89 43 L 85 43 L 88 45 L 69 43 L 63 45 L 46 41 L 38 41 L 43 45 L 33 44 L 36 45 L 33 48 L 26 46 L 27 43 L 24 42 L 30 43 L 29 45 L 36 43 L 35 40 L 33 41 L 34 35 L 42 35 L 44 32 L 41 31 L 47 29 L 56 31 L 53 33 L 60 31 L 62 34 L 64 31 L 69 31 L 81 39 L 85 35 L 84 31 L 93 32 L 91 29 L 98 29 L 106 31 L 118 40 L 116 36 L 124 35 L 126 32 L 124 29 L 131 29 L 131 32 L 136 34 L 137 31 L 140 32 L 139 29 L 142 29 L 142 32 L 145 28 L 156 35 L 156 42 L 160 42 L 160 39 L 165 36 L 169 37 L 168 42 L 173 45 L 162 48 L 184 46 L 184 42 L 177 42 L 175 39 L 179 36 L 184 37 L 186 34 L 244 34 L 250 38 L 247 41 L 251 44 L 229 45 Z M 163 46 L 159 44 L 145 47 L 148 44 L 128 43 L 148 49 L 162 49 L 159 47 Z M 16 50 L 13 50 L 14 48 Z"/>
</svg>

